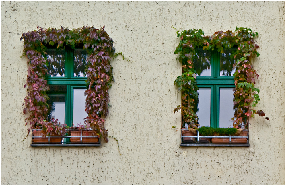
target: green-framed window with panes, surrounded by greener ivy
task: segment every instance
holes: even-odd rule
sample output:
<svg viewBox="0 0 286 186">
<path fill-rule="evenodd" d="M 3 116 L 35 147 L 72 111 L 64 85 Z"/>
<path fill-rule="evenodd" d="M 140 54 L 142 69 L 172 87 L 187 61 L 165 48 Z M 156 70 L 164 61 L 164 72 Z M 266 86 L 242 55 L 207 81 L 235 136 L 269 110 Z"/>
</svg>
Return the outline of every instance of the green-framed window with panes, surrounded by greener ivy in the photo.
<svg viewBox="0 0 286 186">
<path fill-rule="evenodd" d="M 194 69 L 199 87 L 198 122 L 200 126 L 232 127 L 234 116 L 234 50 L 223 53 L 197 49 Z"/>
</svg>

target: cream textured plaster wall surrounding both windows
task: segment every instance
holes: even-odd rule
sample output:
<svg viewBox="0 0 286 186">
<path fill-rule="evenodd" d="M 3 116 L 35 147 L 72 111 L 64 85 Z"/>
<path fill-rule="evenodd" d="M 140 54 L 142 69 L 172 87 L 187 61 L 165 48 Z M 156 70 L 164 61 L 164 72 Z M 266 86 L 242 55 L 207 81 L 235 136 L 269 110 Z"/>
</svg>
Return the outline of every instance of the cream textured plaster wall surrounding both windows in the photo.
<svg viewBox="0 0 286 186">
<path fill-rule="evenodd" d="M 31 147 L 23 141 L 26 58 L 22 33 L 83 25 L 105 30 L 131 62 L 112 61 L 115 82 L 101 147 Z M 250 27 L 260 89 L 250 147 L 179 147 L 178 29 Z M 285 2 L 1 1 L 1 184 L 285 184 Z"/>
</svg>

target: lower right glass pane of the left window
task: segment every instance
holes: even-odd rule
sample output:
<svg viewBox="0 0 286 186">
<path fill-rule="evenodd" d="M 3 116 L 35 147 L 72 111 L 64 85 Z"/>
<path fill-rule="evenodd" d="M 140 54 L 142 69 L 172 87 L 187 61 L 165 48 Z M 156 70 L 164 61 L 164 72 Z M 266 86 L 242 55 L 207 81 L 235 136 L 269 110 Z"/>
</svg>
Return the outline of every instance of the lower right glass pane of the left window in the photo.
<svg viewBox="0 0 286 186">
<path fill-rule="evenodd" d="M 85 98 L 84 91 L 86 89 L 73 89 L 73 124 L 84 124 L 84 119 L 87 117 L 85 112 Z"/>
</svg>

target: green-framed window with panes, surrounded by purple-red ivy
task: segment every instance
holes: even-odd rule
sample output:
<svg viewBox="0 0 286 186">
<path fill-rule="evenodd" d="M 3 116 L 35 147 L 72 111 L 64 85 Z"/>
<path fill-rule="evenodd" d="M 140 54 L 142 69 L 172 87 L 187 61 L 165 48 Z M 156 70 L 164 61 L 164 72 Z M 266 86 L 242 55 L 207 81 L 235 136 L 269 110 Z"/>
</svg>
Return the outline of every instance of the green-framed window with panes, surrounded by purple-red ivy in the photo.
<svg viewBox="0 0 286 186">
<path fill-rule="evenodd" d="M 83 118 L 87 116 L 84 96 L 87 52 L 66 47 L 65 50 L 47 49 L 46 53 L 50 74 L 47 78 L 50 87 L 47 92 L 50 98 L 48 117 L 67 126 L 83 124 Z"/>
</svg>

